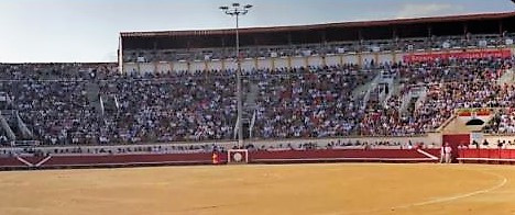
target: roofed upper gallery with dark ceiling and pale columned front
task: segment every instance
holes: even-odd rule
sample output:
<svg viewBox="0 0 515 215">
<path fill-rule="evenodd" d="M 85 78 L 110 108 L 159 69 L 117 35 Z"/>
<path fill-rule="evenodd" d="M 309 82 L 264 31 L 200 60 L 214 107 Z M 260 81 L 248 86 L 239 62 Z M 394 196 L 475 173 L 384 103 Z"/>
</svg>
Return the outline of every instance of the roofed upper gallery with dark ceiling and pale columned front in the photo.
<svg viewBox="0 0 515 215">
<path fill-rule="evenodd" d="M 515 33 L 515 12 L 342 22 L 240 30 L 242 68 L 276 69 L 370 61 L 401 61 L 414 53 L 500 48 Z M 123 32 L 123 72 L 235 69 L 234 30 Z M 467 44 L 446 41 L 468 38 Z"/>
</svg>

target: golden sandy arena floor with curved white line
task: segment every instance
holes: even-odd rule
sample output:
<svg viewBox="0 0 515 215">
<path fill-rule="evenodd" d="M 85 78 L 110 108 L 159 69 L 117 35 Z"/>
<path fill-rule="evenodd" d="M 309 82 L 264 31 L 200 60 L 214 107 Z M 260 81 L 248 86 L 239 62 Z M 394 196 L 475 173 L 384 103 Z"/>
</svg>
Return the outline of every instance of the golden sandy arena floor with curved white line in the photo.
<svg viewBox="0 0 515 215">
<path fill-rule="evenodd" d="M 515 214 L 515 166 L 326 163 L 0 172 L 0 214 Z"/>
</svg>

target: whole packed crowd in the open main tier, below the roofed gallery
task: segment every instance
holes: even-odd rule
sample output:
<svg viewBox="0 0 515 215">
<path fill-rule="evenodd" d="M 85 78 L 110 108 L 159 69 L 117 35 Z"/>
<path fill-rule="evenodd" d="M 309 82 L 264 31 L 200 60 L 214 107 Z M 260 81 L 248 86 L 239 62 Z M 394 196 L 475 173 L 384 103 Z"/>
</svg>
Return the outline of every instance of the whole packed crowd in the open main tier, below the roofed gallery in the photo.
<svg viewBox="0 0 515 215">
<path fill-rule="evenodd" d="M 370 66 L 370 65 L 369 65 Z M 515 89 L 496 80 L 513 59 L 446 59 L 245 71 L 258 86 L 254 138 L 407 136 L 435 131 L 459 108 L 514 106 Z M 363 109 L 355 89 L 377 71 L 403 88 Z M 113 65 L 0 65 L 8 105 L 46 145 L 222 140 L 234 137 L 233 70 L 119 75 Z M 427 98 L 407 113 L 404 94 L 424 86 Z M 244 89 L 249 91 L 249 89 Z M 514 114 L 501 113 L 495 133 L 514 133 Z M 2 142 L 6 138 L 3 135 Z"/>
</svg>

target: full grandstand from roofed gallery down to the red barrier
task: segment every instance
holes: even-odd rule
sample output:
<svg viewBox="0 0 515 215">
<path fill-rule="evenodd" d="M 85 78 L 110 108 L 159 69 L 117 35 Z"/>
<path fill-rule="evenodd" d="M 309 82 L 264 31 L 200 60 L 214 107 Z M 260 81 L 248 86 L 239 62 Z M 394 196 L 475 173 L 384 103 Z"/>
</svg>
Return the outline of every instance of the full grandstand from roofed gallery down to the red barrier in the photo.
<svg viewBox="0 0 515 215">
<path fill-rule="evenodd" d="M 496 13 L 244 29 L 245 147 L 515 145 L 515 29 L 508 24 L 514 18 Z M 118 65 L 0 65 L 0 144 L 6 147 L 0 152 L 209 154 L 233 148 L 232 33 L 121 33 Z"/>
</svg>

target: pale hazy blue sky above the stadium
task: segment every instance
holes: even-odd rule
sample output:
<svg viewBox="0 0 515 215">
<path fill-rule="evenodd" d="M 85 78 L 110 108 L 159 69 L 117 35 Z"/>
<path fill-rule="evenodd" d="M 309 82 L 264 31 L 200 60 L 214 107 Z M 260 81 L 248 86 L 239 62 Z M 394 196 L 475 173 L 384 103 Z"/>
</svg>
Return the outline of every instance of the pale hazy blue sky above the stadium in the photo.
<svg viewBox="0 0 515 215">
<path fill-rule="evenodd" d="M 228 0 L 0 0 L 0 63 L 116 61 L 119 32 L 227 29 Z M 242 26 L 514 11 L 509 0 L 246 0 Z"/>
</svg>

